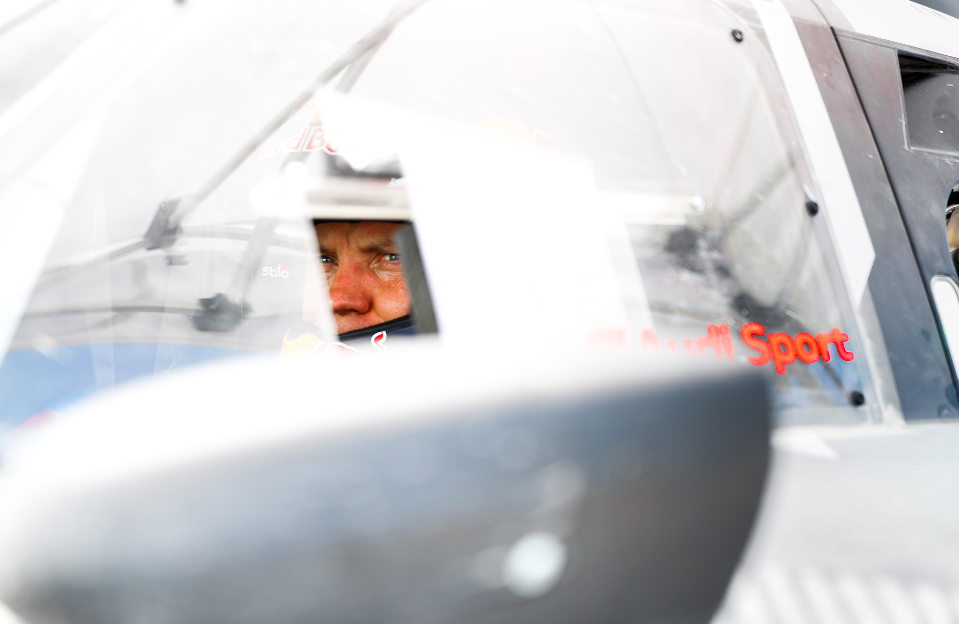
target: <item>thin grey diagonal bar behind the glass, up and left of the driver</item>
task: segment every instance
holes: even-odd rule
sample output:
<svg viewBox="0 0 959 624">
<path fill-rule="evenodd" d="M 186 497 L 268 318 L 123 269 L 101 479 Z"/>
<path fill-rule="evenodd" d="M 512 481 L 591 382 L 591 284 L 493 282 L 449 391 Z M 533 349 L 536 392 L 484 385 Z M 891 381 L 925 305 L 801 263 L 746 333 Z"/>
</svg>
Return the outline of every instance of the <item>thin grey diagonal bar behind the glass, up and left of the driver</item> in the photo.
<svg viewBox="0 0 959 624">
<path fill-rule="evenodd" d="M 254 151 L 259 148 L 264 141 L 277 129 L 282 127 L 290 116 L 303 104 L 309 102 L 321 88 L 335 79 L 345 69 L 346 73 L 341 79 L 338 89 L 348 91 L 357 81 L 360 73 L 369 62 L 370 58 L 386 42 L 386 38 L 393 32 L 393 29 L 406 19 L 410 13 L 419 9 L 427 0 L 401 0 L 396 7 L 386 16 L 386 19 L 369 34 L 357 41 L 341 57 L 333 62 L 332 65 L 316 78 L 313 83 L 307 87 L 295 100 L 292 101 L 283 112 L 273 118 L 269 124 L 260 129 L 232 158 L 230 158 L 207 182 L 199 188 L 196 193 L 188 196 L 182 196 L 175 199 L 168 199 L 160 203 L 153 215 L 150 227 L 144 235 L 144 243 L 147 249 L 158 249 L 172 246 L 179 235 L 180 223 L 183 219 L 193 212 L 199 206 L 200 202 L 210 196 L 222 183 L 229 177 L 230 173 L 236 171 L 241 164 L 246 161 Z"/>
</svg>

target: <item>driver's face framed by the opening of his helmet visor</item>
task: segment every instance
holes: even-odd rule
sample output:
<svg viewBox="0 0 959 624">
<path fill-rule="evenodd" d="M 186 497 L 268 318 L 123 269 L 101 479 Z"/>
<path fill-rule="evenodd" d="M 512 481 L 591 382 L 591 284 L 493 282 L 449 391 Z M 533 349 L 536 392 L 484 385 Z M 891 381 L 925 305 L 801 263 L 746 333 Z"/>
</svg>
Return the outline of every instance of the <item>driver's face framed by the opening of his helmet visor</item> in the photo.
<svg viewBox="0 0 959 624">
<path fill-rule="evenodd" d="M 409 292 L 393 234 L 400 223 L 360 221 L 316 225 L 320 261 L 337 333 L 409 314 Z"/>
</svg>

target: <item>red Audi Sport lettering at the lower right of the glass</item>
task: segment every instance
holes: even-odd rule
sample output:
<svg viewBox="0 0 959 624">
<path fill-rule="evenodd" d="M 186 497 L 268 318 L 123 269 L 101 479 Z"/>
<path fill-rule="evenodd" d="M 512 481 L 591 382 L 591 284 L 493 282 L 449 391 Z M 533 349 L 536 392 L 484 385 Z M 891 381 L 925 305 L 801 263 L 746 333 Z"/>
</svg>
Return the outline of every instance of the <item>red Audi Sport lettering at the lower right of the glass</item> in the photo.
<svg viewBox="0 0 959 624">
<path fill-rule="evenodd" d="M 797 359 L 811 364 L 819 359 L 830 361 L 830 344 L 833 345 L 836 356 L 843 361 L 852 361 L 854 354 L 846 348 L 849 335 L 843 334 L 838 327 L 833 327 L 828 334 L 811 335 L 800 332 L 796 335 L 775 333 L 765 335 L 766 330 L 759 323 L 746 323 L 739 330 L 739 339 L 748 349 L 756 352 L 756 356 L 746 358 L 753 366 L 764 366 L 770 361 L 779 375 L 785 375 L 785 367 Z M 725 323 L 706 326 L 706 335 L 697 338 L 683 338 L 681 340 L 665 340 L 666 349 L 671 354 L 678 354 L 680 345 L 686 355 L 706 358 L 712 352 L 716 359 L 726 358 L 733 361 L 733 339 L 730 337 L 729 326 Z M 663 352 L 659 336 L 652 328 L 644 328 L 640 332 L 640 348 L 643 351 L 651 350 Z"/>
</svg>

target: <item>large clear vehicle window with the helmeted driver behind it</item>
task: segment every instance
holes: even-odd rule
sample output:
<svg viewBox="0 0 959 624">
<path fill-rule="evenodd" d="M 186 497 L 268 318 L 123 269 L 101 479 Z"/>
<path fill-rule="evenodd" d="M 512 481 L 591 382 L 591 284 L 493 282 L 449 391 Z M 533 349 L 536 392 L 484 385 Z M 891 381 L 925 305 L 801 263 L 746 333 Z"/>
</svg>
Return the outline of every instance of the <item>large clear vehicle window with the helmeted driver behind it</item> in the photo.
<svg viewBox="0 0 959 624">
<path fill-rule="evenodd" d="M 801 142 L 737 3 L 420 4 L 111 13 L 70 57 L 82 71 L 0 137 L 3 193 L 35 206 L 11 223 L 8 426 L 407 317 L 462 348 L 763 366 L 784 422 L 881 418 L 868 297 L 811 220 Z M 342 304 L 362 280 L 337 276 L 363 247 L 347 232 L 374 230 L 377 262 L 409 262 L 367 271 L 405 294 L 364 316 Z"/>
</svg>

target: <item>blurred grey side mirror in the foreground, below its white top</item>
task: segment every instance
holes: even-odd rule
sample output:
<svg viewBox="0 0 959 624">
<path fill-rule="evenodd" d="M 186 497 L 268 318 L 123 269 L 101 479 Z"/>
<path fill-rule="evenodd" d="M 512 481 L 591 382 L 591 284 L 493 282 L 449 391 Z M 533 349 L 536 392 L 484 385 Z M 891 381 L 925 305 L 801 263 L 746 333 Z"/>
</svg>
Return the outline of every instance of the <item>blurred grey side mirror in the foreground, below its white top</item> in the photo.
<svg viewBox="0 0 959 624">
<path fill-rule="evenodd" d="M 0 590 L 33 624 L 705 624 L 769 410 L 753 374 L 637 375 L 211 455 L 53 497 Z"/>
</svg>

